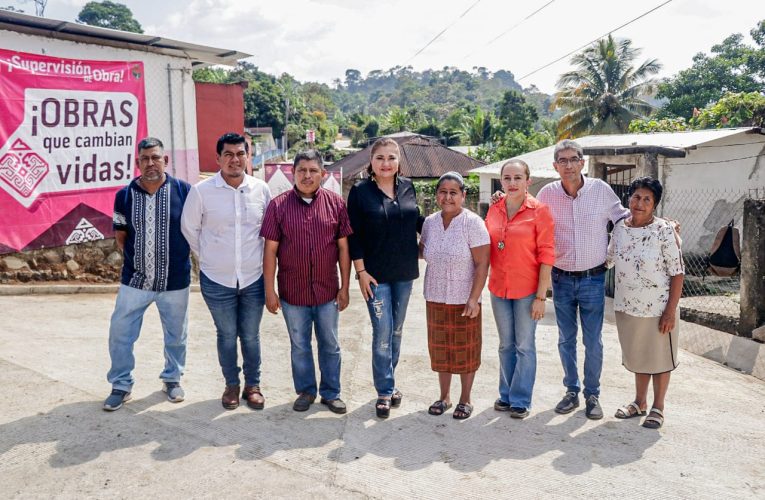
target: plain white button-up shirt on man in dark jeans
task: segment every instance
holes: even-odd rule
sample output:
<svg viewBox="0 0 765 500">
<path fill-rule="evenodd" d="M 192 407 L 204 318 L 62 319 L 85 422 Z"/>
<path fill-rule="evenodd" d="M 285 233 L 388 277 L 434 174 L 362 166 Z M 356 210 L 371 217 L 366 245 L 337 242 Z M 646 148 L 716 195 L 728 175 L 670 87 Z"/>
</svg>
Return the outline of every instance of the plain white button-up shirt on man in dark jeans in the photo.
<svg viewBox="0 0 765 500">
<path fill-rule="evenodd" d="M 263 275 L 260 227 L 270 201 L 268 185 L 246 174 L 236 188 L 220 172 L 191 188 L 181 230 L 205 276 L 222 286 L 246 288 Z"/>
</svg>

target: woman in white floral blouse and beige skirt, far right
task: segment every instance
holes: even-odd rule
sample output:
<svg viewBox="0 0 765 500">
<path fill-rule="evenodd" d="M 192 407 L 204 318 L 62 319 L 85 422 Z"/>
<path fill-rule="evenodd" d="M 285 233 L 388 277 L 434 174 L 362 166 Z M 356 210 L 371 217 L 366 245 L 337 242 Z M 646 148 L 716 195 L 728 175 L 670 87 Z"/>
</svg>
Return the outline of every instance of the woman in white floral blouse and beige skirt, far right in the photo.
<svg viewBox="0 0 765 500">
<path fill-rule="evenodd" d="M 664 397 L 677 367 L 677 309 L 683 290 L 683 259 L 672 223 L 654 215 L 661 183 L 635 179 L 629 189 L 630 216 L 614 228 L 608 261 L 615 266 L 614 311 L 622 364 L 635 373 L 635 400 L 616 411 L 616 418 L 645 415 L 648 385 L 653 403 L 643 427 L 664 424 Z"/>
</svg>

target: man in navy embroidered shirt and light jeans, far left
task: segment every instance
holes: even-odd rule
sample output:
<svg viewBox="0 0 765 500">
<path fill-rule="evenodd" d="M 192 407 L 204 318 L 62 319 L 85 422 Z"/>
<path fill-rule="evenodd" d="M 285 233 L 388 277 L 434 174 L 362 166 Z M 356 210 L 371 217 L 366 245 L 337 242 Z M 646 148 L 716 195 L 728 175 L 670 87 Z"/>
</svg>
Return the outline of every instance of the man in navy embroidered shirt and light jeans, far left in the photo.
<svg viewBox="0 0 765 500">
<path fill-rule="evenodd" d="M 124 262 L 117 302 L 109 327 L 112 393 L 104 410 L 114 411 L 130 399 L 135 367 L 133 344 L 144 312 L 157 305 L 165 341 L 165 368 L 159 375 L 168 400 L 183 401 L 180 386 L 186 362 L 189 244 L 181 234 L 181 213 L 191 186 L 165 173 L 167 155 L 159 139 L 138 143 L 136 165 L 141 176 L 117 192 L 114 235 Z"/>
</svg>

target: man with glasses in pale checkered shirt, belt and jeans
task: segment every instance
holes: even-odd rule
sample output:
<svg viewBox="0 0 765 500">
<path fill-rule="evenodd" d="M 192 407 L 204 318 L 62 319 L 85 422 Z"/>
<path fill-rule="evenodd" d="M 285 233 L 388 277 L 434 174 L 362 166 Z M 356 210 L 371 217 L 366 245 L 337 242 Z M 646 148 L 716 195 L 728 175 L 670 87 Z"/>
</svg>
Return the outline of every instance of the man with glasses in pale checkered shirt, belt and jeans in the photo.
<svg viewBox="0 0 765 500">
<path fill-rule="evenodd" d="M 584 342 L 584 399 L 587 418 L 603 418 L 600 373 L 603 367 L 603 311 L 605 308 L 607 226 L 629 215 L 611 187 L 582 175 L 584 153 L 574 141 L 555 146 L 553 166 L 560 175 L 537 196 L 555 219 L 553 302 L 558 322 L 558 352 L 563 365 L 566 395 L 555 407 L 571 413 L 579 406 L 582 385 L 576 360 L 577 310 Z"/>
</svg>

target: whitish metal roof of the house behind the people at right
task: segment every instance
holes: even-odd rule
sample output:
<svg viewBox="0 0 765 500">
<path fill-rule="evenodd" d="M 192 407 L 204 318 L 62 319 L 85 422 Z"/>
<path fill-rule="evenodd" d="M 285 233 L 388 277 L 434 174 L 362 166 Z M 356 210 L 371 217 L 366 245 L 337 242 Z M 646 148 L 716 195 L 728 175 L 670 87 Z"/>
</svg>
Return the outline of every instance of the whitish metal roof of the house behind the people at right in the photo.
<svg viewBox="0 0 765 500">
<path fill-rule="evenodd" d="M 683 132 L 656 132 L 651 134 L 588 135 L 579 137 L 576 139 L 576 142 L 578 142 L 585 150 L 588 148 L 624 148 L 631 146 L 687 149 L 732 135 L 756 130 L 756 127 L 739 127 L 713 130 L 688 130 Z M 554 150 L 555 146 L 549 146 L 530 153 L 522 154 L 516 158 L 528 163 L 532 177 L 557 179 L 558 173 L 552 165 Z M 588 158 L 589 157 L 585 155 L 585 159 Z M 502 168 L 502 165 L 504 165 L 506 161 L 507 160 L 502 160 L 490 163 L 489 165 L 471 170 L 471 173 L 498 175 L 499 169 Z M 588 163 L 585 163 L 584 173 L 587 173 L 587 165 Z"/>
</svg>

